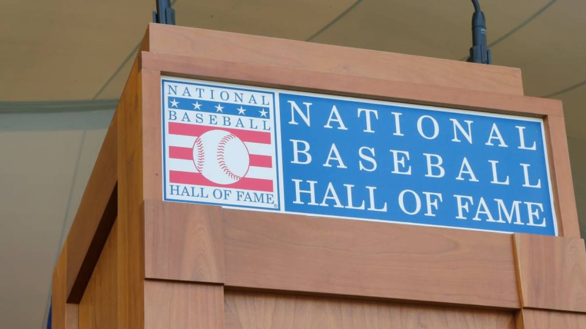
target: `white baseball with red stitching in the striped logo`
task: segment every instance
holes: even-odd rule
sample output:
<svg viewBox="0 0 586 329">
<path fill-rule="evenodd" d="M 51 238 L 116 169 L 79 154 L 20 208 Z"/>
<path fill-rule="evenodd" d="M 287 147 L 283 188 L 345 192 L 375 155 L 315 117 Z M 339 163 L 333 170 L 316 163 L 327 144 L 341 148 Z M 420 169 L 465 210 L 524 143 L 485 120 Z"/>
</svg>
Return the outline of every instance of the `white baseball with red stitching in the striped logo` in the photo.
<svg viewBox="0 0 586 329">
<path fill-rule="evenodd" d="M 246 176 L 250 160 L 244 142 L 233 133 L 212 130 L 193 143 L 193 162 L 203 177 L 216 184 L 232 184 Z"/>
</svg>

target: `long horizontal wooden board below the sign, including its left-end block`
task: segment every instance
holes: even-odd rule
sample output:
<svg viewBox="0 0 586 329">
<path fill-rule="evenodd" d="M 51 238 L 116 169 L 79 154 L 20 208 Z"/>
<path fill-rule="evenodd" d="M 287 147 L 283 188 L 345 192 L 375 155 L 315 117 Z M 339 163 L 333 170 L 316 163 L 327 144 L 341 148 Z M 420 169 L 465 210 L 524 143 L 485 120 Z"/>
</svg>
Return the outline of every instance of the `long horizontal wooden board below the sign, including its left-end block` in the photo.
<svg viewBox="0 0 586 329">
<path fill-rule="evenodd" d="M 145 232 L 149 279 L 520 307 L 508 234 L 153 200 Z"/>
</svg>

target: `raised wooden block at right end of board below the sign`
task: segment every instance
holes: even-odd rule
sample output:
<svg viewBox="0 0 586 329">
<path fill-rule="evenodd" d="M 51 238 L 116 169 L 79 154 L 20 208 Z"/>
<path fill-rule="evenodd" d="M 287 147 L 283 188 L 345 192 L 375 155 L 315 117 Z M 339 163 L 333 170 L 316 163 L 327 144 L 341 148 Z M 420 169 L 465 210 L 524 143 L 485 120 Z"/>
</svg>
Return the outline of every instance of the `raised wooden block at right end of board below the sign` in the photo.
<svg viewBox="0 0 586 329">
<path fill-rule="evenodd" d="M 586 312 L 584 240 L 515 234 L 523 307 Z"/>
</svg>

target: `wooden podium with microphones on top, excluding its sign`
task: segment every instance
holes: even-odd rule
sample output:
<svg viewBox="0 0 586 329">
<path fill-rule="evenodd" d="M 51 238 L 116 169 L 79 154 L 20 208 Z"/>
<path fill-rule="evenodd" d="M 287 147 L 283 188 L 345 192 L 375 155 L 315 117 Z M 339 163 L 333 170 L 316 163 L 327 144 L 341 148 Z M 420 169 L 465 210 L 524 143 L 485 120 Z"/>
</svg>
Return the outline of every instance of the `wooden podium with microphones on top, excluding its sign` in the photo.
<svg viewBox="0 0 586 329">
<path fill-rule="evenodd" d="M 162 201 L 161 75 L 544 118 L 558 237 Z M 151 24 L 53 274 L 53 328 L 586 328 L 561 102 L 520 70 Z"/>
</svg>

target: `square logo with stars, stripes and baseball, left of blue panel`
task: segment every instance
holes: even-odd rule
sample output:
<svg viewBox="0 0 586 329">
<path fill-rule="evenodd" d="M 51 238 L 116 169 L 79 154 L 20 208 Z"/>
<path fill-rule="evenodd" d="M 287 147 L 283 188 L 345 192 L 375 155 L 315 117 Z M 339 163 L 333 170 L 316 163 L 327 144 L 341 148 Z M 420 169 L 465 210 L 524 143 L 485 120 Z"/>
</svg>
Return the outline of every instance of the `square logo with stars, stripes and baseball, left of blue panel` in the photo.
<svg viewBox="0 0 586 329">
<path fill-rule="evenodd" d="M 279 207 L 274 93 L 162 80 L 165 200 Z"/>
</svg>

